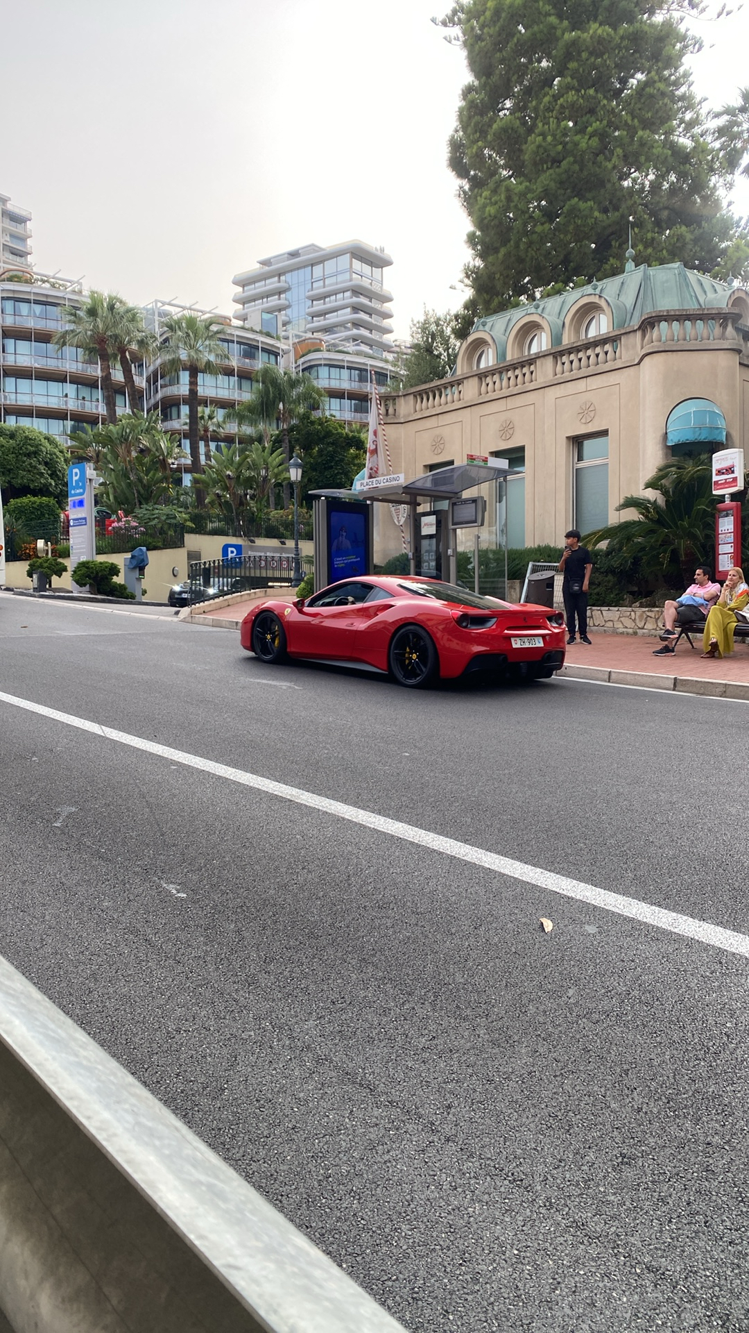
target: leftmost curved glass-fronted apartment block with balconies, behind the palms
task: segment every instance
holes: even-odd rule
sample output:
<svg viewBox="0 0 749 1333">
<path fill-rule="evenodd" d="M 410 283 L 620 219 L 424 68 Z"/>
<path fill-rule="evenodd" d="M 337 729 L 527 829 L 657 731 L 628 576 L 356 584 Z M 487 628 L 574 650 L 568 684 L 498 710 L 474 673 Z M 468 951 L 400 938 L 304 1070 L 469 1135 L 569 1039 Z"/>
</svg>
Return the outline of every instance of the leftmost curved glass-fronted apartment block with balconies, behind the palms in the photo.
<svg viewBox="0 0 749 1333">
<path fill-rule="evenodd" d="M 31 271 L 0 279 L 0 421 L 31 425 L 65 440 L 71 431 L 105 420 L 99 360 L 55 347 L 67 312 L 84 299 L 79 283 Z M 115 403 L 127 411 L 120 367 L 112 364 Z M 143 387 L 143 375 L 136 373 Z"/>
</svg>

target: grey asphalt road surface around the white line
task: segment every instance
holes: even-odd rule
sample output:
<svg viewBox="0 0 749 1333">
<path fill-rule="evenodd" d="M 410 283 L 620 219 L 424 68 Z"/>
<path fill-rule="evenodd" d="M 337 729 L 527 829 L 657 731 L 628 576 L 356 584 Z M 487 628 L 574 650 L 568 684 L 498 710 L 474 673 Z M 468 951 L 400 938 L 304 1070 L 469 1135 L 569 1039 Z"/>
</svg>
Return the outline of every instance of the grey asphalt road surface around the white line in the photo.
<svg viewBox="0 0 749 1333">
<path fill-rule="evenodd" d="M 746 704 L 9 596 L 0 689 L 749 933 Z M 0 758 L 0 952 L 408 1329 L 746 1333 L 745 957 L 4 702 Z"/>
</svg>

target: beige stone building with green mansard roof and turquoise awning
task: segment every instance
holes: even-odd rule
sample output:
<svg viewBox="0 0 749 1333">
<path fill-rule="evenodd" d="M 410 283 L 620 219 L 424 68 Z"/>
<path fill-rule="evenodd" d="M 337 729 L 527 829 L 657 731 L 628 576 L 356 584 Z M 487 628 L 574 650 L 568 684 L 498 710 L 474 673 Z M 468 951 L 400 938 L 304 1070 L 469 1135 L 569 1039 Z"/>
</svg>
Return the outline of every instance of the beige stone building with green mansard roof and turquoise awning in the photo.
<svg viewBox="0 0 749 1333">
<path fill-rule="evenodd" d="M 749 295 L 633 259 L 478 320 L 454 376 L 386 396 L 393 471 L 508 459 L 508 544 L 525 547 L 625 517 L 620 501 L 673 453 L 749 449 Z"/>
</svg>

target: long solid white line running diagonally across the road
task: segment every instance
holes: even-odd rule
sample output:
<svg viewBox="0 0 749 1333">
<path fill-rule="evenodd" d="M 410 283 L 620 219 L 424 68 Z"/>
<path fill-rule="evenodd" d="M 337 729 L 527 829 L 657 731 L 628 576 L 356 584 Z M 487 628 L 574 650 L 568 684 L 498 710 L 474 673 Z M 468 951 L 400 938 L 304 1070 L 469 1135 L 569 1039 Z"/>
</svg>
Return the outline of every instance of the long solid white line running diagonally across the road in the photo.
<svg viewBox="0 0 749 1333">
<path fill-rule="evenodd" d="M 709 944 L 714 949 L 724 949 L 726 953 L 738 953 L 749 958 L 749 936 L 737 930 L 726 930 L 724 926 L 710 921 L 700 921 L 696 917 L 682 916 L 680 912 L 668 912 L 665 908 L 654 906 L 652 902 L 641 902 L 638 898 L 628 898 L 620 893 L 609 893 L 608 889 L 598 889 L 593 884 L 584 884 L 580 880 L 570 880 L 553 870 L 544 870 L 536 865 L 525 865 L 522 861 L 513 861 L 506 856 L 486 852 L 484 848 L 472 846 L 470 842 L 458 842 L 452 837 L 442 837 L 429 829 L 420 829 L 413 824 L 402 824 L 400 820 L 386 818 L 384 814 L 374 814 L 372 810 L 361 810 L 356 805 L 344 805 L 343 801 L 333 801 L 328 796 L 319 796 L 315 792 L 305 792 L 299 786 L 288 786 L 285 782 L 275 782 L 272 778 L 260 777 L 257 773 L 247 773 L 241 768 L 231 768 L 228 764 L 217 764 L 215 760 L 203 758 L 200 754 L 189 754 L 187 750 L 176 750 L 169 745 L 160 745 L 157 741 L 148 741 L 143 736 L 131 736 L 128 732 L 119 732 L 112 726 L 103 726 L 100 722 L 91 722 L 85 717 L 75 717 L 72 713 L 61 713 L 56 708 L 45 708 L 44 704 L 35 704 L 28 698 L 17 698 L 15 694 L 0 692 L 0 702 L 11 704 L 13 708 L 24 708 L 29 713 L 40 717 L 49 717 L 55 722 L 64 722 L 67 726 L 76 726 L 79 730 L 89 732 L 92 736 L 101 736 L 104 740 L 115 741 L 119 745 L 129 745 L 132 749 L 144 750 L 147 754 L 157 754 L 160 758 L 173 760 L 187 768 L 200 769 L 213 777 L 223 777 L 229 782 L 239 782 L 241 786 L 251 786 L 255 790 L 265 792 L 268 796 L 277 796 L 284 801 L 293 801 L 296 805 L 307 805 L 313 810 L 333 814 L 336 818 L 348 820 L 351 824 L 360 824 L 364 828 L 374 829 L 377 833 L 386 833 L 389 837 L 401 838 L 404 842 L 413 842 L 428 852 L 440 852 L 442 856 L 452 856 L 458 861 L 468 861 L 485 870 L 496 870 L 497 874 L 509 876 L 513 880 L 522 880 L 525 884 L 536 884 L 541 889 L 549 889 L 566 898 L 577 898 L 578 902 L 589 902 L 590 906 L 604 908 L 606 912 L 616 912 L 618 916 L 630 917 L 644 925 L 654 925 L 661 930 L 670 930 L 689 940 L 698 940 Z"/>
</svg>

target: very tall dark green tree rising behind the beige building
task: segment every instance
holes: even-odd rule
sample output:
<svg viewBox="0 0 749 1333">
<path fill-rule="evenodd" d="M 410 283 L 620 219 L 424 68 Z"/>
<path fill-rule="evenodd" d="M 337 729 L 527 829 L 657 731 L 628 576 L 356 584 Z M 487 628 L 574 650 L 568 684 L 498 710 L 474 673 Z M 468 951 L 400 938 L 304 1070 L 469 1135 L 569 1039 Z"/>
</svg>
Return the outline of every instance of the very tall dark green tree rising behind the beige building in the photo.
<svg viewBox="0 0 749 1333">
<path fill-rule="evenodd" d="M 637 260 L 720 267 L 728 164 L 692 89 L 698 0 L 458 0 L 472 80 L 450 165 L 473 223 L 474 313 Z"/>
</svg>

